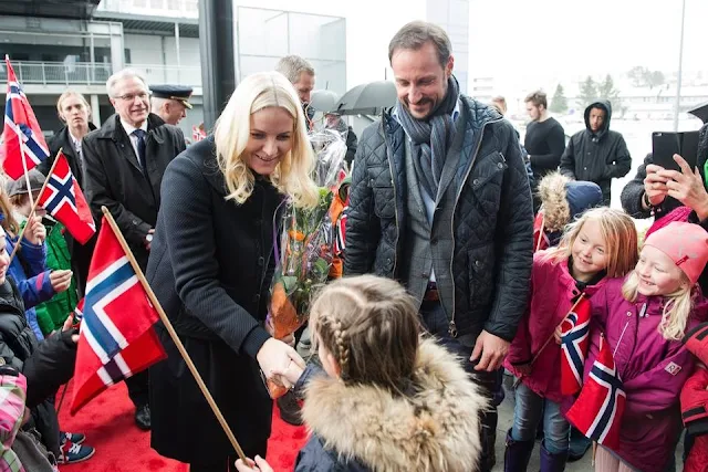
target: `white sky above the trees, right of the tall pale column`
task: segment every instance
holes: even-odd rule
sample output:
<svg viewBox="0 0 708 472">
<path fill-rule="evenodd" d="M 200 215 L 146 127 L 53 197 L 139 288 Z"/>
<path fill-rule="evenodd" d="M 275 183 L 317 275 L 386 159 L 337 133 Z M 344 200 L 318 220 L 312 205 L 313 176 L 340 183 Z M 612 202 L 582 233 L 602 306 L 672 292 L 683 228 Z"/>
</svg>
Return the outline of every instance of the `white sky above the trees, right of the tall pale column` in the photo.
<svg viewBox="0 0 708 472">
<path fill-rule="evenodd" d="M 678 69 L 681 0 L 470 0 L 470 18 L 480 72 Z M 686 70 L 708 71 L 707 20 L 708 1 L 686 0 Z"/>
</svg>

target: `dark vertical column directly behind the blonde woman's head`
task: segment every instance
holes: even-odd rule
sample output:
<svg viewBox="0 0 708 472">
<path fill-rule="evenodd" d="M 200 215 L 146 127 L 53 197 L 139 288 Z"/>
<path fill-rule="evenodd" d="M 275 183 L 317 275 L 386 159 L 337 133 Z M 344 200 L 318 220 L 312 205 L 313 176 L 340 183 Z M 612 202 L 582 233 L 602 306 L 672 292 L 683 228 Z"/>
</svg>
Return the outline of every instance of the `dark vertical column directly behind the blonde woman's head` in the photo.
<svg viewBox="0 0 708 472">
<path fill-rule="evenodd" d="M 233 1 L 199 1 L 199 52 L 204 125 L 211 129 L 236 90 Z"/>
</svg>

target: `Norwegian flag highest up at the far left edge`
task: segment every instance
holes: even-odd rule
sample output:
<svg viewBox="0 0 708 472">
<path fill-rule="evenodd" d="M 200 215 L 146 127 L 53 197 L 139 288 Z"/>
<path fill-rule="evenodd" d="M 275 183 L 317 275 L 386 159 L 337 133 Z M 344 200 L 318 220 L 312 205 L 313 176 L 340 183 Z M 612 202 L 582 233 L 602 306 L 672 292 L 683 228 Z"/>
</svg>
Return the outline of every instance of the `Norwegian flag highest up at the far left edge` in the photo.
<svg viewBox="0 0 708 472">
<path fill-rule="evenodd" d="M 33 169 L 49 157 L 49 147 L 8 55 L 4 56 L 4 63 L 8 69 L 8 94 L 0 159 L 6 174 L 17 180 L 24 175 L 25 168 Z"/>
</svg>

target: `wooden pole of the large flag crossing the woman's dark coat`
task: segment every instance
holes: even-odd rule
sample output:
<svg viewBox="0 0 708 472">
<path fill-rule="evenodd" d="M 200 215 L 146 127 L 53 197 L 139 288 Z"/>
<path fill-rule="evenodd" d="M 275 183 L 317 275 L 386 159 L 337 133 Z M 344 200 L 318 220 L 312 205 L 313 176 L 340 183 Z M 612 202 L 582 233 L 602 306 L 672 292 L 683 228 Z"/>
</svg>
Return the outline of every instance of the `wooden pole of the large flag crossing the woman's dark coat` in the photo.
<svg viewBox="0 0 708 472">
<path fill-rule="evenodd" d="M 113 232 L 115 233 L 118 242 L 121 243 L 121 247 L 123 247 L 123 250 L 125 251 L 125 255 L 128 258 L 128 261 L 131 261 L 131 265 L 133 266 L 133 270 L 137 275 L 137 279 L 140 281 L 140 283 L 143 284 L 143 289 L 145 289 L 145 292 L 147 293 L 147 297 L 149 298 L 155 310 L 157 310 L 160 321 L 165 324 L 165 328 L 167 328 L 167 332 L 169 333 L 169 337 L 173 338 L 173 342 L 177 346 L 177 350 L 179 350 L 179 354 L 181 355 L 183 359 L 185 359 L 185 363 L 187 364 L 189 371 L 191 373 L 192 377 L 197 381 L 197 385 L 199 386 L 201 394 L 207 400 L 207 403 L 209 403 L 209 407 L 211 407 L 211 411 L 214 411 L 214 415 L 216 415 L 217 420 L 219 421 L 219 424 L 221 424 L 221 428 L 223 429 L 223 432 L 229 438 L 231 445 L 233 447 L 236 452 L 239 454 L 239 458 L 243 461 L 243 463 L 247 463 L 247 464 L 250 463 L 249 460 L 246 458 L 246 454 L 243 453 L 241 445 L 237 441 L 236 436 L 233 436 L 233 432 L 231 431 L 229 423 L 226 422 L 226 419 L 223 418 L 221 410 L 219 410 L 219 407 L 214 400 L 214 397 L 211 397 L 209 389 L 207 388 L 204 380 L 201 379 L 201 375 L 199 375 L 197 367 L 191 360 L 191 357 L 189 357 L 189 353 L 187 353 L 187 349 L 185 349 L 185 346 L 181 344 L 179 336 L 177 336 L 177 333 L 175 332 L 173 324 L 167 318 L 167 315 L 165 314 L 163 306 L 159 304 L 157 296 L 155 296 L 155 292 L 153 292 L 153 289 L 147 283 L 147 280 L 145 279 L 145 274 L 143 274 L 140 266 L 135 260 L 135 255 L 133 255 L 133 251 L 131 251 L 131 248 L 128 248 L 128 243 L 125 241 L 125 238 L 123 237 L 123 233 L 121 232 L 121 230 L 118 229 L 118 225 L 113 219 L 113 216 L 111 214 L 111 212 L 106 207 L 101 207 L 101 211 L 103 211 L 103 214 L 106 217 L 106 221 L 108 221 L 108 224 L 111 224 L 111 229 L 113 229 Z"/>
</svg>

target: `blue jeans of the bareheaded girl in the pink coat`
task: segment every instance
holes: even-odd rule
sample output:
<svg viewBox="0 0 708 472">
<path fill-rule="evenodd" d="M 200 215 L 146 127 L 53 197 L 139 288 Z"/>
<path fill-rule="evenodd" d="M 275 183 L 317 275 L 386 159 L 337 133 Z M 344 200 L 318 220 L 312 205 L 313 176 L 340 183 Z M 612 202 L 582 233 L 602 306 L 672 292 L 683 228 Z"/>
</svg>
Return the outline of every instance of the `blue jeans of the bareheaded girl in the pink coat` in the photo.
<svg viewBox="0 0 708 472">
<path fill-rule="evenodd" d="M 511 438 L 514 441 L 533 441 L 539 422 L 543 421 L 543 445 L 551 454 L 568 452 L 570 424 L 561 413 L 561 406 L 537 395 L 523 384 L 516 391 L 513 427 Z"/>
</svg>

